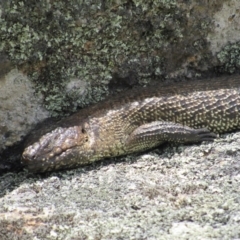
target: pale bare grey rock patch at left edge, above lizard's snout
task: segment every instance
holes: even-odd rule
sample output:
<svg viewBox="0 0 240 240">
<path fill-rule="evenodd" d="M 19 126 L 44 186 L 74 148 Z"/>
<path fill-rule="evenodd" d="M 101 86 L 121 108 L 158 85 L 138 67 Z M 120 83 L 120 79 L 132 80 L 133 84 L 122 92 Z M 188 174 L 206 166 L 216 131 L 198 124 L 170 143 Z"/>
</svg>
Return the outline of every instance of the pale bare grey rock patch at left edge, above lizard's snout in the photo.
<svg viewBox="0 0 240 240">
<path fill-rule="evenodd" d="M 17 69 L 0 76 L 0 103 L 0 152 L 20 142 L 38 122 L 50 116 L 34 84 Z"/>
</svg>

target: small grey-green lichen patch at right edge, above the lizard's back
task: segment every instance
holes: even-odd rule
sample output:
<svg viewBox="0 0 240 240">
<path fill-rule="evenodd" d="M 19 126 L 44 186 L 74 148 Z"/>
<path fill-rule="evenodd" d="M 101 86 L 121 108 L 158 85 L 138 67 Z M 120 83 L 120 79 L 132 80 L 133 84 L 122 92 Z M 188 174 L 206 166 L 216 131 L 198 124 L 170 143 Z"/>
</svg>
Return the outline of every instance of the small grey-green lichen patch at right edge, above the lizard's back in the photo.
<svg viewBox="0 0 240 240">
<path fill-rule="evenodd" d="M 234 73 L 240 69 L 240 42 L 226 45 L 218 54 L 220 71 Z"/>
</svg>

